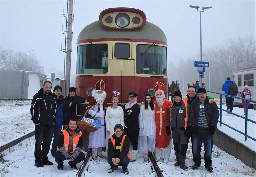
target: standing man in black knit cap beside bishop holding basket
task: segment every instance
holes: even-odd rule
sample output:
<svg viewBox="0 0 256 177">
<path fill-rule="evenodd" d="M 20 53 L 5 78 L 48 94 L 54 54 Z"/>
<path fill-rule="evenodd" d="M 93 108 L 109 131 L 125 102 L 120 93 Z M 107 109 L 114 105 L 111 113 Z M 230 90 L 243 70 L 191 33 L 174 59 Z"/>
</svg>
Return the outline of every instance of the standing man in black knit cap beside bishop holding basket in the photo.
<svg viewBox="0 0 256 177">
<path fill-rule="evenodd" d="M 67 117 L 64 120 L 65 128 L 68 126 L 68 121 L 71 118 L 78 118 L 76 114 L 76 104 L 85 103 L 85 99 L 82 96 L 76 95 L 76 88 L 70 87 L 68 90 L 69 94 L 65 97 L 66 99 L 66 109 L 67 109 Z"/>
</svg>

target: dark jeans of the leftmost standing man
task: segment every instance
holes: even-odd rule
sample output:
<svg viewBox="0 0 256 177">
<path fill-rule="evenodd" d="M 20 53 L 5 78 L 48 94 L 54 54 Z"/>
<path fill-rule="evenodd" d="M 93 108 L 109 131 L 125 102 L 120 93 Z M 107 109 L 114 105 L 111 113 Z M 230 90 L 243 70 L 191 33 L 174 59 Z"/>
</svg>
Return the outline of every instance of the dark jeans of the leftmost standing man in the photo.
<svg viewBox="0 0 256 177">
<path fill-rule="evenodd" d="M 35 161 L 39 161 L 41 159 L 48 159 L 47 154 L 50 150 L 50 145 L 52 141 L 52 126 L 44 126 L 44 125 L 35 125 Z M 41 149 L 42 146 L 42 149 Z"/>
</svg>

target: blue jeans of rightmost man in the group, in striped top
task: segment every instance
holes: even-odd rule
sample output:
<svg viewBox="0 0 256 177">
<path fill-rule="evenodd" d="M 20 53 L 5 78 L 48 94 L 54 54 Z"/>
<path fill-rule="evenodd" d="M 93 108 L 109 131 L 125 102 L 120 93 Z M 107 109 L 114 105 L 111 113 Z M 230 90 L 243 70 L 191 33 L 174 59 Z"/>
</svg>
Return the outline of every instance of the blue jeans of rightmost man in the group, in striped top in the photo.
<svg viewBox="0 0 256 177">
<path fill-rule="evenodd" d="M 201 164 L 201 147 L 204 142 L 204 165 L 212 165 L 213 135 L 209 135 L 208 129 L 199 129 L 198 134 L 193 134 L 193 158 L 196 164 Z"/>
</svg>

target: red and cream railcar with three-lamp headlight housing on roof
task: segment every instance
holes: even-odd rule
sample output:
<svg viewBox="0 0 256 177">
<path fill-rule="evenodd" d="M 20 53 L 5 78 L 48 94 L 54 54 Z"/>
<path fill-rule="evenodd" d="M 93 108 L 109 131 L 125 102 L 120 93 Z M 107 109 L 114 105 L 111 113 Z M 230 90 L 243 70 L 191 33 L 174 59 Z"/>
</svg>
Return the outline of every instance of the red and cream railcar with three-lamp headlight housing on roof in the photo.
<svg viewBox="0 0 256 177">
<path fill-rule="evenodd" d="M 157 81 L 164 83 L 167 96 L 166 69 L 166 36 L 138 9 L 106 9 L 78 36 L 76 89 L 86 102 L 100 79 L 107 103 L 113 91 L 120 92 L 119 103 L 128 102 L 128 92 L 138 93 L 140 103 L 147 92 L 154 94 Z"/>
</svg>

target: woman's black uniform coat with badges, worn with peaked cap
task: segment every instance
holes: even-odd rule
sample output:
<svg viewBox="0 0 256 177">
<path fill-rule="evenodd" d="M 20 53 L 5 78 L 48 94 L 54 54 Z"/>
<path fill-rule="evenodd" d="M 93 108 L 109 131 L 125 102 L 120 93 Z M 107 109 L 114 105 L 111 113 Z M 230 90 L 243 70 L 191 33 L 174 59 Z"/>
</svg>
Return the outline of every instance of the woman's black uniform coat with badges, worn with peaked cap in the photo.
<svg viewBox="0 0 256 177">
<path fill-rule="evenodd" d="M 124 127 L 125 131 L 139 131 L 139 114 L 140 106 L 134 104 L 131 108 L 124 110 Z"/>
</svg>

